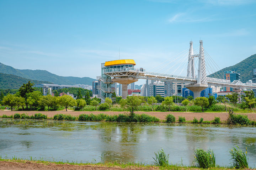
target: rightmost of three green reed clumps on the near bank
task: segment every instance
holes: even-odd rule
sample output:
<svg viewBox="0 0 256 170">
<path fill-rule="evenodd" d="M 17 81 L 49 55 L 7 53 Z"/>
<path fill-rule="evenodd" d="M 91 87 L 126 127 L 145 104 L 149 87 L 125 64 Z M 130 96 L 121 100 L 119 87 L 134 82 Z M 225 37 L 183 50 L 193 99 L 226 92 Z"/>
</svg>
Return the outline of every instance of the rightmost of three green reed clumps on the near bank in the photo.
<svg viewBox="0 0 256 170">
<path fill-rule="evenodd" d="M 231 155 L 231 160 L 233 161 L 234 168 L 236 169 L 248 168 L 248 158 L 246 158 L 247 148 L 246 148 L 246 152 L 244 153 L 237 145 L 236 147 L 238 149 L 233 147 L 233 149 L 229 151 Z"/>
</svg>

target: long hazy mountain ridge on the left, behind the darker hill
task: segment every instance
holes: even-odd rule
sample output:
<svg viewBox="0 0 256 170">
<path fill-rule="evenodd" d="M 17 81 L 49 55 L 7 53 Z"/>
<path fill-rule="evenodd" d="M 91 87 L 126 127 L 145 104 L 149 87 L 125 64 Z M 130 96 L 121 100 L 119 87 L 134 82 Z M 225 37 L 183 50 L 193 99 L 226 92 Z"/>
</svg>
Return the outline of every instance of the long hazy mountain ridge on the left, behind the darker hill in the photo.
<svg viewBox="0 0 256 170">
<path fill-rule="evenodd" d="M 74 85 L 74 84 L 88 84 L 92 85 L 92 81 L 95 79 L 89 77 L 64 77 L 56 74 L 52 74 L 46 70 L 21 70 L 11 66 L 6 66 L 0 63 L 0 73 L 13 74 L 26 79 L 49 81 L 59 85 Z"/>
</svg>

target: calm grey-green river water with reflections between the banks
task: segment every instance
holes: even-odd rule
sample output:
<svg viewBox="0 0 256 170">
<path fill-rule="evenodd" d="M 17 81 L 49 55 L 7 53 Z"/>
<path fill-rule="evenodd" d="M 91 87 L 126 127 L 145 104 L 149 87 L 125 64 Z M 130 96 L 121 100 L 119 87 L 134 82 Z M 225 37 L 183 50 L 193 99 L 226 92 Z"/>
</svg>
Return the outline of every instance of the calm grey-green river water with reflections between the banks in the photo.
<svg viewBox="0 0 256 170">
<path fill-rule="evenodd" d="M 249 166 L 255 167 L 255 127 L 0 119 L 2 157 L 151 164 L 163 148 L 170 162 L 191 165 L 201 147 L 213 149 L 216 164 L 229 165 L 228 150 L 235 145 L 247 147 Z"/>
</svg>

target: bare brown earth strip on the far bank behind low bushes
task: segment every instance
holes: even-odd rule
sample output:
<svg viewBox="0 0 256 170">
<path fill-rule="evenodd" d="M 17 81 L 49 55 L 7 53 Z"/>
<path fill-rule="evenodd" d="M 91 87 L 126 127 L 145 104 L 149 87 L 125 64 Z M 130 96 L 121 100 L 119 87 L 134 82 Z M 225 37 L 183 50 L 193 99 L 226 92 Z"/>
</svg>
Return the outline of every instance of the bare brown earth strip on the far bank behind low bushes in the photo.
<svg viewBox="0 0 256 170">
<path fill-rule="evenodd" d="M 115 115 L 115 114 L 128 114 L 129 112 L 114 112 L 114 111 L 5 111 L 5 110 L 0 110 L 0 115 L 2 116 L 3 114 L 6 115 L 13 115 L 15 113 L 27 113 L 28 115 L 34 115 L 35 113 L 43 113 L 46 114 L 48 117 L 53 117 L 55 114 L 71 114 L 73 116 L 78 116 L 80 114 L 100 114 L 100 113 L 105 113 L 109 115 Z M 164 120 L 167 114 L 173 114 L 176 119 L 178 119 L 179 116 L 185 117 L 186 120 L 193 120 L 194 117 L 197 119 L 203 118 L 204 120 L 213 120 L 214 117 L 220 117 L 220 120 L 226 120 L 228 118 L 228 113 L 195 113 L 195 112 L 135 112 L 138 114 L 149 114 L 152 116 L 155 116 L 159 118 L 160 120 Z M 245 114 L 248 116 L 249 119 L 251 120 L 256 120 L 256 113 L 239 113 L 239 114 Z"/>
</svg>

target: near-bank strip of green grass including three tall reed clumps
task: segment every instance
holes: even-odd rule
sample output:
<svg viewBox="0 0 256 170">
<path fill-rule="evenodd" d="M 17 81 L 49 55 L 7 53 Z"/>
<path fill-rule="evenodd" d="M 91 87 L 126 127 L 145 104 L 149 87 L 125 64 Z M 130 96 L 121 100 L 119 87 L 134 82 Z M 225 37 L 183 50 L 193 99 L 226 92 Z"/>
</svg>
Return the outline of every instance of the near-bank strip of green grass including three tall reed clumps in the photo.
<svg viewBox="0 0 256 170">
<path fill-rule="evenodd" d="M 193 164 L 191 166 L 184 166 L 182 164 L 182 161 L 180 164 L 169 164 L 169 154 L 166 154 L 164 150 L 161 148 L 158 152 L 155 152 L 155 157 L 152 157 L 154 162 L 153 164 L 146 165 L 145 163 L 134 163 L 134 162 L 128 162 L 128 163 L 118 163 L 118 162 L 99 162 L 96 163 L 94 161 L 87 162 L 87 163 L 78 163 L 78 162 L 69 162 L 68 160 L 66 162 L 63 161 L 50 161 L 50 160 L 44 160 L 43 158 L 37 160 L 30 157 L 29 160 L 12 157 L 9 159 L 7 156 L 5 158 L 2 158 L 0 155 L 0 161 L 12 161 L 12 162 L 20 162 L 20 163 L 26 163 L 27 161 L 31 161 L 33 163 L 43 163 L 43 164 L 71 164 L 71 165 L 99 165 L 99 166 L 118 166 L 120 168 L 156 168 L 159 169 L 191 169 L 191 168 L 201 168 L 201 169 L 220 169 L 224 170 L 227 168 L 234 168 L 234 169 L 248 169 L 248 160 L 247 158 L 247 148 L 246 152 L 243 152 L 238 146 L 233 147 L 230 151 L 230 160 L 232 161 L 230 166 L 219 166 L 215 163 L 215 154 L 211 149 L 208 149 L 207 151 L 198 148 L 194 151 L 194 160 Z"/>
</svg>

